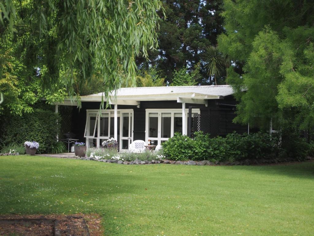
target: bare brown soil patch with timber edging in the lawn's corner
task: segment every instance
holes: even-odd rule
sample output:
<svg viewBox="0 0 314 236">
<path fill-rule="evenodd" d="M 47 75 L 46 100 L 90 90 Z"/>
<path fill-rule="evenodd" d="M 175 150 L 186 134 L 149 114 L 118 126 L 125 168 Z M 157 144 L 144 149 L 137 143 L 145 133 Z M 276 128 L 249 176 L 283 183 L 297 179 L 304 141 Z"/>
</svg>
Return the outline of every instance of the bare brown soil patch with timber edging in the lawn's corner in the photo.
<svg viewBox="0 0 314 236">
<path fill-rule="evenodd" d="M 101 219 L 97 214 L 6 215 L 0 216 L 3 236 L 100 236 Z"/>
</svg>

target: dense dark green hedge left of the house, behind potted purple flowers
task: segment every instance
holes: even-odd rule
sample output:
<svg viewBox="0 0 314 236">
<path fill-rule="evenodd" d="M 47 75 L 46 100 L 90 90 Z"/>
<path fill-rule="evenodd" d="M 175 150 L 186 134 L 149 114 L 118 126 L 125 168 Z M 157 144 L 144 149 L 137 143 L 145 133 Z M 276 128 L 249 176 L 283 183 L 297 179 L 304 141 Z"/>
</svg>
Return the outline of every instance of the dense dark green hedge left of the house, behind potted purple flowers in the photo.
<svg viewBox="0 0 314 236">
<path fill-rule="evenodd" d="M 39 143 L 37 153 L 45 153 L 56 143 L 60 131 L 60 116 L 50 110 L 35 109 L 22 116 L 4 115 L 1 118 L 0 145 L 24 144 L 25 141 Z M 59 121 L 59 122 L 57 122 Z"/>
</svg>

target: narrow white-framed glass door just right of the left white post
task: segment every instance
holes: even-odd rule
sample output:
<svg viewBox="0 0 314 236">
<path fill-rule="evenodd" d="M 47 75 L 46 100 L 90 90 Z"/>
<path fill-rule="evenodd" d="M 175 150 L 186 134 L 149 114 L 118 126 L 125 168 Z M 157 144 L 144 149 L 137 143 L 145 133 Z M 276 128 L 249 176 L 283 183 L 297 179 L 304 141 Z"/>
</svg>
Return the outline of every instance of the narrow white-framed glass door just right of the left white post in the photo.
<svg viewBox="0 0 314 236">
<path fill-rule="evenodd" d="M 129 149 L 133 142 L 133 112 L 120 112 L 120 150 Z"/>
</svg>

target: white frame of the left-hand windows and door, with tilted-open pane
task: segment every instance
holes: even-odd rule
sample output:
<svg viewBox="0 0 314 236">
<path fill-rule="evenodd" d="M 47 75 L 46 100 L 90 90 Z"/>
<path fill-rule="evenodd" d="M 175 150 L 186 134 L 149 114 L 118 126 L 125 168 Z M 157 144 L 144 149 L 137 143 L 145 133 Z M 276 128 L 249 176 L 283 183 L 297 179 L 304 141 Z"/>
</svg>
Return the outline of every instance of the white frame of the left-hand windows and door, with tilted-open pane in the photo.
<svg viewBox="0 0 314 236">
<path fill-rule="evenodd" d="M 134 124 L 134 111 L 133 109 L 118 109 L 118 114 L 117 117 L 120 117 L 121 113 L 131 113 L 131 117 L 132 117 L 132 123 L 130 124 L 130 126 L 132 127 L 132 129 L 130 130 L 130 140 L 131 142 L 133 142 L 133 124 Z M 94 136 L 86 136 L 86 129 L 88 129 L 89 127 L 89 114 L 93 114 L 96 113 L 96 122 L 95 122 L 95 127 L 94 127 Z M 100 114 L 109 114 L 108 118 L 108 136 L 100 136 Z M 114 109 L 104 109 L 104 110 L 96 110 L 96 109 L 88 109 L 86 110 L 86 123 L 85 123 L 85 132 L 84 132 L 84 138 L 86 138 L 86 146 L 89 147 L 89 139 L 96 139 L 96 146 L 100 147 L 101 143 L 100 143 L 100 139 L 109 139 L 111 138 L 110 135 L 110 118 L 114 117 Z M 96 124 L 97 124 L 97 137 L 95 137 L 95 131 L 96 131 Z M 120 126 L 121 126 L 121 121 L 120 121 Z M 120 144 L 121 147 L 121 127 L 120 127 L 120 137 L 119 140 L 117 140 Z"/>
</svg>

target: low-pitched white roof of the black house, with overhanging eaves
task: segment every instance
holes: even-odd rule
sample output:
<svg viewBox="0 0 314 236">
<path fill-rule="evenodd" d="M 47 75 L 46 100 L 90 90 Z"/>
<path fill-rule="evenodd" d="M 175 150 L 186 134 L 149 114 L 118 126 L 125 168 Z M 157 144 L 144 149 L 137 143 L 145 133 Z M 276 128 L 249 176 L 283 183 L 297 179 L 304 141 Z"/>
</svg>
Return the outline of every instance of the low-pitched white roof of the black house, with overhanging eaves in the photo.
<svg viewBox="0 0 314 236">
<path fill-rule="evenodd" d="M 209 86 L 165 86 L 165 87 L 134 87 L 120 88 L 111 91 L 109 99 L 104 93 L 81 96 L 82 102 L 100 102 L 109 100 L 110 104 L 136 105 L 139 101 L 165 101 L 207 104 L 206 99 L 219 99 L 233 94 L 230 85 Z"/>
</svg>

